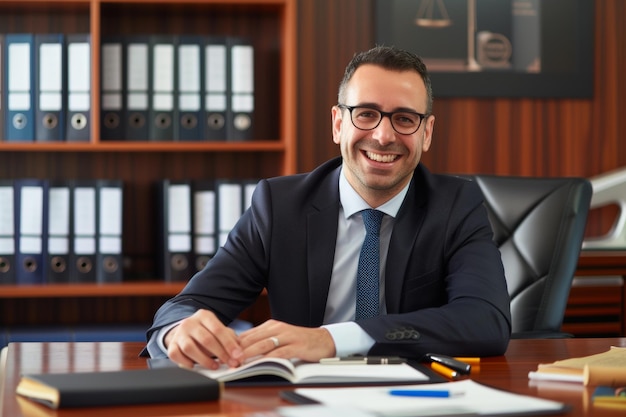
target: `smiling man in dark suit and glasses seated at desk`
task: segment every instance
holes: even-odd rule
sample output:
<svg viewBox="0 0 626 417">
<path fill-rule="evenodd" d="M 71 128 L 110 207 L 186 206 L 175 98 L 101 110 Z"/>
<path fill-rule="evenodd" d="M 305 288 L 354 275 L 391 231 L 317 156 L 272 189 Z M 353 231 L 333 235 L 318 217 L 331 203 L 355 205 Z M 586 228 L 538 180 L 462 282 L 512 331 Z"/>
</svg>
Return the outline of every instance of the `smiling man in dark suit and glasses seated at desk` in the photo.
<svg viewBox="0 0 626 417">
<path fill-rule="evenodd" d="M 488 356 L 508 345 L 509 296 L 479 188 L 419 162 L 435 117 L 426 67 L 393 47 L 357 54 L 332 107 L 341 158 L 262 180 L 227 242 L 157 312 L 152 356 L 231 366 L 257 356 Z M 362 210 L 384 213 L 378 310 L 355 318 Z M 360 284 L 359 284 L 360 285 Z M 267 288 L 272 319 L 227 324 Z"/>
</svg>

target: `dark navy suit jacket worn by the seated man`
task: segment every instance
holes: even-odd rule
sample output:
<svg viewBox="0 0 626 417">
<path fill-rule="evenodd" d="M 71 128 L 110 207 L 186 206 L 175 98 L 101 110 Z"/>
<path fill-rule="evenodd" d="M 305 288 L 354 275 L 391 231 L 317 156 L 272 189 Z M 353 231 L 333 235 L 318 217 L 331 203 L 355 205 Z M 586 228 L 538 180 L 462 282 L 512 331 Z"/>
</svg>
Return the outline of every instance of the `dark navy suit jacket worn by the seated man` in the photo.
<svg viewBox="0 0 626 417">
<path fill-rule="evenodd" d="M 260 181 L 224 246 L 158 310 L 148 339 L 202 308 L 229 323 L 263 288 L 272 318 L 324 324 L 341 163 L 336 158 L 308 174 Z M 511 331 L 509 295 L 492 238 L 479 188 L 433 175 L 420 164 L 391 235 L 387 314 L 358 321 L 376 341 L 369 354 L 504 353 Z"/>
</svg>

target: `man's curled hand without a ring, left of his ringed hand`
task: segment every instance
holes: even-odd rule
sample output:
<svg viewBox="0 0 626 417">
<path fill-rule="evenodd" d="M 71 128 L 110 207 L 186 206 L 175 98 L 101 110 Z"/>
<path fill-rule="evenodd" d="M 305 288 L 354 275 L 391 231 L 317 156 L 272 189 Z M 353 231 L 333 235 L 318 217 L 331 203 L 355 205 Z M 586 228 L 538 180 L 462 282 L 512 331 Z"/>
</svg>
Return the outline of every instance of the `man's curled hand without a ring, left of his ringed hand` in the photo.
<svg viewBox="0 0 626 417">
<path fill-rule="evenodd" d="M 165 335 L 167 355 L 177 364 L 193 367 L 199 364 L 216 369 L 220 362 L 231 367 L 242 364 L 243 348 L 233 329 L 208 310 L 198 310 Z"/>
</svg>

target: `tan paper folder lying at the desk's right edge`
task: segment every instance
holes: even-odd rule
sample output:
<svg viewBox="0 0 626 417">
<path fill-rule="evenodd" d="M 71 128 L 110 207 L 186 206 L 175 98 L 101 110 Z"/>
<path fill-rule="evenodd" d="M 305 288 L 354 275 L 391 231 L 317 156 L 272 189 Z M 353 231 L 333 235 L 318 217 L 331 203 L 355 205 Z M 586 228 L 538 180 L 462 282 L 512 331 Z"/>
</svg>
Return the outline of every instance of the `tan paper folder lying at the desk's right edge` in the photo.
<svg viewBox="0 0 626 417">
<path fill-rule="evenodd" d="M 612 346 L 595 355 L 539 364 L 528 377 L 584 385 L 626 385 L 626 348 Z"/>
</svg>

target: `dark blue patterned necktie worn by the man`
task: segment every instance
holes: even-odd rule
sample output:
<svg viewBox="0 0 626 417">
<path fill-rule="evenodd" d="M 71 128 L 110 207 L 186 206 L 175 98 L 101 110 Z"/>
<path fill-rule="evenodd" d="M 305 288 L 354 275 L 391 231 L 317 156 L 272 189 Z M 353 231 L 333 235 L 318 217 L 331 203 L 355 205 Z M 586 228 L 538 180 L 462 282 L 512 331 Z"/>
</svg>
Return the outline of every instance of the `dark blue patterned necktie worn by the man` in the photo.
<svg viewBox="0 0 626 417">
<path fill-rule="evenodd" d="M 359 256 L 356 280 L 356 319 L 378 315 L 378 273 L 380 271 L 379 232 L 383 212 L 363 210 L 365 240 Z"/>
</svg>

